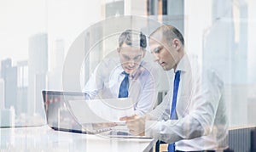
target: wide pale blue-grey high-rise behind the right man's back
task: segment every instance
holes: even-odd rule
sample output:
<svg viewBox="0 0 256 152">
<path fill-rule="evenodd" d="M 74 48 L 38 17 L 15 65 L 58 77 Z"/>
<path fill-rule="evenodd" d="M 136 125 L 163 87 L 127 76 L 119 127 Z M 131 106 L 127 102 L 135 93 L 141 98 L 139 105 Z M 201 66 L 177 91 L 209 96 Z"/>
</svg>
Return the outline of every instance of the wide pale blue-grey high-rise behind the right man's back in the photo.
<svg viewBox="0 0 256 152">
<path fill-rule="evenodd" d="M 230 126 L 247 124 L 247 4 L 212 2 L 212 26 L 204 35 L 203 66 L 225 82 Z M 241 102 L 243 101 L 243 102 Z M 244 114 L 244 115 L 241 115 Z"/>
</svg>

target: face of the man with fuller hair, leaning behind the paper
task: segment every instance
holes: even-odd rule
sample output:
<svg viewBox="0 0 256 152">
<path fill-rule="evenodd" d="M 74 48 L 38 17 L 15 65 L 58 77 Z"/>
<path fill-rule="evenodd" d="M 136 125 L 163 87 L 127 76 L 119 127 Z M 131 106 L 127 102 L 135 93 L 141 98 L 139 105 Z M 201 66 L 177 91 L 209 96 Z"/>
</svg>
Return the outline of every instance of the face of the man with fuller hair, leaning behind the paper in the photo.
<svg viewBox="0 0 256 152">
<path fill-rule="evenodd" d="M 137 70 L 145 52 L 140 47 L 131 47 L 124 43 L 122 47 L 118 48 L 118 53 L 123 69 L 126 73 L 131 74 Z"/>
</svg>

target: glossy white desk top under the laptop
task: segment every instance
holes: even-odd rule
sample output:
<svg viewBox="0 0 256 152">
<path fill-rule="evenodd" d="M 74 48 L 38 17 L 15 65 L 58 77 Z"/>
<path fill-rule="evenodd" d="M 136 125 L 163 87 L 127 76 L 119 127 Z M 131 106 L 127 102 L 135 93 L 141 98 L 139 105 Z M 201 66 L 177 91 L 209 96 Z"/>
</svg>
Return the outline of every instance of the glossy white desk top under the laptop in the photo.
<svg viewBox="0 0 256 152">
<path fill-rule="evenodd" d="M 108 138 L 72 132 L 60 132 L 44 127 L 0 129 L 0 151 L 149 151 L 154 139 Z"/>
</svg>

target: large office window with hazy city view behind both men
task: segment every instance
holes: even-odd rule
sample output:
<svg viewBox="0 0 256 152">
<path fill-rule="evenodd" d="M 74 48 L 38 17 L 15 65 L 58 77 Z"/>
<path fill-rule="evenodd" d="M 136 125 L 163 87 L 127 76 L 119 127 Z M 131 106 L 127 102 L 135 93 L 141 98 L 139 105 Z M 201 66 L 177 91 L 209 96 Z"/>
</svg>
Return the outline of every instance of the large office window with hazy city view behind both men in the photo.
<svg viewBox="0 0 256 152">
<path fill-rule="evenodd" d="M 201 6 L 198 7 L 198 3 Z M 0 108 L 15 109 L 15 125 L 45 124 L 41 91 L 61 90 L 69 48 L 100 20 L 137 15 L 172 24 L 182 31 L 186 48 L 204 67 L 218 70 L 225 83 L 230 127 L 255 125 L 256 3 L 253 0 L 84 0 L 0 2 Z M 150 25 L 148 25 L 150 26 Z M 109 28 L 109 27 L 108 27 Z M 89 31 L 84 50 L 109 29 Z M 81 86 L 97 63 L 116 47 L 118 36 L 99 42 L 85 61 Z M 85 54 L 82 54 L 85 55 Z M 70 85 L 72 86 L 72 81 Z M 80 87 L 70 87 L 78 91 Z M 168 85 L 161 84 L 162 94 Z"/>
</svg>

